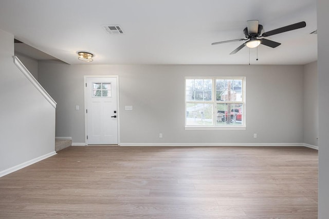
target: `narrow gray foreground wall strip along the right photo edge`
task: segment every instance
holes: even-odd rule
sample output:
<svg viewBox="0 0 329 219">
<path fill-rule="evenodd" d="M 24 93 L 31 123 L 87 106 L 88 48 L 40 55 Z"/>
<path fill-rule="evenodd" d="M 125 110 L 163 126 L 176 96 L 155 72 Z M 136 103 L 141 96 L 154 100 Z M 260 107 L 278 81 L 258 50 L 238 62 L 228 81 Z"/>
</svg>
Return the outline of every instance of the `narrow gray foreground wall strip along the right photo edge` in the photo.
<svg viewBox="0 0 329 219">
<path fill-rule="evenodd" d="M 319 74 L 319 208 L 318 218 L 329 215 L 329 1 L 317 0 Z"/>
</svg>

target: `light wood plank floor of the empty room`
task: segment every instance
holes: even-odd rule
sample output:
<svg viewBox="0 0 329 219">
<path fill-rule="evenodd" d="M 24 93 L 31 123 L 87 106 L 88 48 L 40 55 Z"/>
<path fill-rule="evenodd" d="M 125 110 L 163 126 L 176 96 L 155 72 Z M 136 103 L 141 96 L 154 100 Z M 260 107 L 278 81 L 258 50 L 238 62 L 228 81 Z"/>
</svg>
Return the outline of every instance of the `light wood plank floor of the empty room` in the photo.
<svg viewBox="0 0 329 219">
<path fill-rule="evenodd" d="M 68 147 L 0 178 L 0 218 L 317 218 L 304 147 Z"/>
</svg>

